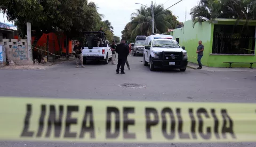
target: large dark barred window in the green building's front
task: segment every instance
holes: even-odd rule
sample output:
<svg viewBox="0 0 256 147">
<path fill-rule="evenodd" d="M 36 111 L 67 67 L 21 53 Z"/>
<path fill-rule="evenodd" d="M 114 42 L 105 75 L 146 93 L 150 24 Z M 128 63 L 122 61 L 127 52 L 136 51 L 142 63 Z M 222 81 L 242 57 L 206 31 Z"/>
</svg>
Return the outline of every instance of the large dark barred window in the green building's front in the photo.
<svg viewBox="0 0 256 147">
<path fill-rule="evenodd" d="M 254 54 L 255 26 L 214 25 L 213 54 Z"/>
</svg>

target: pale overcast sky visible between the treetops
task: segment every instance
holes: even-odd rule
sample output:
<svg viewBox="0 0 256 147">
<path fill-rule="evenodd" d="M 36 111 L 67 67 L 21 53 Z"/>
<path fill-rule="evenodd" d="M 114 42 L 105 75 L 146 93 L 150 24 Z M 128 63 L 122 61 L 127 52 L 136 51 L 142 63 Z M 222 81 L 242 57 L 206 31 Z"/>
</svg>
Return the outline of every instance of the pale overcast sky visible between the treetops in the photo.
<svg viewBox="0 0 256 147">
<path fill-rule="evenodd" d="M 114 27 L 114 34 L 118 37 L 122 36 L 121 31 L 124 29 L 126 23 L 131 21 L 131 13 L 140 8 L 140 5 L 135 3 L 140 3 L 147 6 L 150 6 L 151 4 L 151 0 L 89 0 L 89 2 L 90 1 L 97 4 L 99 7 L 99 13 L 105 15 L 103 20 L 109 20 L 111 22 L 112 26 Z M 164 4 L 164 8 L 167 9 L 179 1 L 180 0 L 153 0 L 153 3 Z M 189 12 L 191 8 L 198 3 L 199 0 L 183 0 L 180 3 L 172 6 L 169 10 L 178 17 L 179 21 L 185 22 L 185 20 L 191 19 Z M 4 22 L 4 18 L 5 23 L 12 23 L 7 22 L 6 17 L 3 14 L 0 14 L 0 22 Z"/>
</svg>

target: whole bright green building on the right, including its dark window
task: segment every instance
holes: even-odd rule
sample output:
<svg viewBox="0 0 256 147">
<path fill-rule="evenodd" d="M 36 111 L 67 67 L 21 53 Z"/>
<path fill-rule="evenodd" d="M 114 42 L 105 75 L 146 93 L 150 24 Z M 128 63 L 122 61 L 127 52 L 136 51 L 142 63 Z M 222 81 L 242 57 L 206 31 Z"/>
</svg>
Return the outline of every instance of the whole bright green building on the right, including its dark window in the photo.
<svg viewBox="0 0 256 147">
<path fill-rule="evenodd" d="M 245 24 L 247 23 L 247 24 Z M 223 62 L 256 62 L 256 20 L 214 19 L 212 23 L 185 22 L 183 28 L 171 32 L 181 46 L 186 47 L 189 62 L 197 63 L 198 41 L 204 45 L 203 66 L 229 67 Z M 232 64 L 232 67 L 250 67 L 250 64 Z M 253 64 L 256 67 L 256 64 Z"/>
</svg>

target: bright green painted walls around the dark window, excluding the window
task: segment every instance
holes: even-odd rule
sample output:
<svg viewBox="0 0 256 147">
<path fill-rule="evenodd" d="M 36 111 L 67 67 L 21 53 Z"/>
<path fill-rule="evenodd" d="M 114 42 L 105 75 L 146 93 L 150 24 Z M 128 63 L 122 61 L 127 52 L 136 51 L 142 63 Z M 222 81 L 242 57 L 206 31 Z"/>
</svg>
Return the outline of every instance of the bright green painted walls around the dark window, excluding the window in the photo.
<svg viewBox="0 0 256 147">
<path fill-rule="evenodd" d="M 188 53 L 188 61 L 197 63 L 197 46 L 198 41 L 202 40 L 204 45 L 204 56 L 202 58 L 203 66 L 207 67 L 229 67 L 228 63 L 223 62 L 256 62 L 256 56 L 253 55 L 225 55 L 225 54 L 212 54 L 213 43 L 213 28 L 214 24 L 230 25 L 235 21 L 228 19 L 216 19 L 214 23 L 203 22 L 202 25 L 196 23 L 193 28 L 193 21 L 189 20 L 184 23 L 183 28 L 178 28 L 173 31 L 173 38 L 180 39 L 180 45 L 186 47 Z M 239 25 L 243 25 L 243 22 L 239 22 Z M 249 25 L 256 26 L 256 22 L 250 22 Z M 255 44 L 256 49 L 256 44 Z M 232 67 L 250 67 L 250 64 L 232 64 Z M 256 67 L 256 64 L 253 64 Z"/>
</svg>

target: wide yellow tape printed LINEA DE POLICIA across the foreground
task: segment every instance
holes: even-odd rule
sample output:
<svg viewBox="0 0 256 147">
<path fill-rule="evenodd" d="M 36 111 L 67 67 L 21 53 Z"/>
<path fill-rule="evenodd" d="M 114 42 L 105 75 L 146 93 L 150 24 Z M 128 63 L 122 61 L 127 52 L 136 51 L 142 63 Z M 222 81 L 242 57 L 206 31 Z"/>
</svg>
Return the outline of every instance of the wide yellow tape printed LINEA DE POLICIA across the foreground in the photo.
<svg viewBox="0 0 256 147">
<path fill-rule="evenodd" d="M 0 98 L 0 140 L 255 142 L 256 104 Z"/>
</svg>

